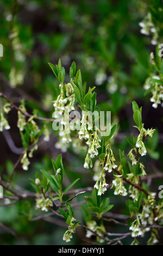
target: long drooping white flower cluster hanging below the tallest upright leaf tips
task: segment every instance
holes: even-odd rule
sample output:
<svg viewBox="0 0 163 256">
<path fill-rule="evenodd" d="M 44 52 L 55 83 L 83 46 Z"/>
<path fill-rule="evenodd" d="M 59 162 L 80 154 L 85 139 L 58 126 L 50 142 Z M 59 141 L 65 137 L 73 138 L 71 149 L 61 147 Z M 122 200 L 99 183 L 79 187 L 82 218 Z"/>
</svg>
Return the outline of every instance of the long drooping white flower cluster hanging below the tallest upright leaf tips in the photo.
<svg viewBox="0 0 163 256">
<path fill-rule="evenodd" d="M 59 131 L 59 141 L 55 144 L 56 148 L 65 152 L 72 142 L 70 129 L 65 129 L 65 126 L 69 127 L 69 119 L 67 113 L 74 110 L 74 89 L 71 83 L 60 84 L 60 94 L 57 100 L 54 101 L 54 118 L 60 118 L 60 124 L 63 129 Z"/>
</svg>

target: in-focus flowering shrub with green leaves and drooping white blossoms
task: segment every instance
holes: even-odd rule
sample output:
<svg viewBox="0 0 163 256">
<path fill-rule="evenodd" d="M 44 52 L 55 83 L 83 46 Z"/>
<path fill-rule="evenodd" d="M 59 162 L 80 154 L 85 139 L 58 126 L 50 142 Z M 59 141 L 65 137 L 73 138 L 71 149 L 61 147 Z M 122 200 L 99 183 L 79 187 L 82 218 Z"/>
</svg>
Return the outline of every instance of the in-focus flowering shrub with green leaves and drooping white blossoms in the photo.
<svg viewBox="0 0 163 256">
<path fill-rule="evenodd" d="M 90 88 L 87 93 L 84 92 L 82 76 L 80 70 L 78 70 L 76 74 L 76 64 L 74 62 L 70 68 L 70 82 L 68 83 L 64 83 L 65 69 L 61 66 L 60 60 L 56 66 L 53 64 L 49 65 L 60 82 L 60 94 L 57 97 L 57 100 L 54 101 L 54 118 L 57 118 L 56 121 L 63 125 L 62 130 L 59 131 L 59 142 L 57 143 L 57 147 L 61 148 L 62 151 L 67 150 L 72 143 L 71 137 L 74 136 L 72 135 L 71 130 L 68 132 L 65 130 L 66 122 L 69 123 L 70 121 L 69 119 L 65 121 L 65 110 L 68 109 L 68 112 L 70 113 L 75 107 L 80 107 L 80 109 L 84 111 L 84 114 L 80 120 L 81 125 L 79 131 L 75 130 L 75 132 L 78 136 L 78 147 L 80 147 L 82 143 L 86 143 L 87 145 L 87 153 L 85 161 L 83 161 L 83 166 L 84 168 L 89 169 L 92 168 L 95 163 L 95 166 L 97 167 L 96 161 L 98 161 L 98 172 L 96 176 L 93 177 L 95 185 L 92 190 L 92 196 L 84 197 L 87 204 L 83 204 L 82 209 L 86 217 L 86 226 L 74 218 L 73 208 L 70 203 L 68 203 L 79 194 L 85 193 L 84 189 L 83 191 L 74 194 L 72 198 L 66 201 L 63 200 L 68 190 L 70 190 L 79 179 L 74 180 L 71 185 L 63 188 L 62 181 L 65 174 L 61 155 L 58 156 L 56 162 L 52 161 L 54 175 L 49 174 L 46 170 L 42 169 L 42 175 L 36 172 L 35 180 L 30 179 L 35 189 L 35 194 L 32 196 L 36 200 L 35 208 L 41 211 L 51 210 L 54 215 L 63 216 L 65 218 L 66 223 L 68 224 L 68 229 L 63 236 L 63 240 L 66 242 L 71 241 L 73 234 L 78 235 L 76 228 L 79 225 L 83 225 L 86 229 L 86 237 L 91 238 L 96 234 L 97 243 L 112 244 L 116 240 L 109 239 L 103 222 L 100 223 L 100 221 L 105 220 L 103 215 L 114 207 L 114 205 L 110 205 L 109 197 L 105 197 L 101 201 L 102 195 L 111 188 L 114 190 L 115 196 L 126 197 L 130 221 L 126 224 L 120 224 L 129 226 L 128 229 L 130 230 L 130 233 L 127 233 L 124 237 L 130 235 L 131 237 L 134 237 L 132 244 L 138 244 L 137 237 L 144 236 L 147 231 L 150 231 L 151 236 L 147 243 L 158 243 L 159 238 L 157 232 L 159 224 L 163 221 L 163 205 L 161 201 L 156 202 L 155 193 L 149 191 L 147 184 L 143 184 L 142 186 L 141 180 L 141 178 L 147 175 L 146 168 L 141 162 L 141 157 L 147 154 L 145 139 L 147 136 L 152 137 L 155 129 L 145 129 L 145 124 L 142 123 L 142 107 L 139 107 L 137 103 L 133 101 L 133 119 L 136 124 L 134 127 L 139 131 L 139 135 L 137 138 L 134 138 L 133 133 L 131 133 L 130 138 L 126 136 L 132 149 L 129 151 L 128 157 L 124 154 L 124 151 L 120 149 L 120 157 L 116 159 L 111 148 L 116 125 L 112 126 L 108 136 L 103 136 L 101 126 L 96 126 L 96 120 L 99 117 L 97 118 L 95 115 L 92 119 L 92 124 L 90 124 L 86 115 L 88 111 L 94 112 L 95 109 L 99 112 L 96 105 L 96 93 L 92 92 L 95 87 L 92 89 Z M 1 96 L 5 101 L 10 102 L 2 92 Z M 39 129 L 34 120 L 41 120 L 41 118 L 38 117 L 36 113 L 29 117 L 24 102 L 22 102 L 19 107 L 16 107 L 10 102 L 5 103 L 1 112 L 2 130 L 10 129 L 8 121 L 3 115 L 3 112 L 8 113 L 10 111 L 10 107 L 15 107 L 18 112 L 17 127 L 20 129 L 24 147 L 24 151 L 19 161 L 22 163 L 22 168 L 28 170 L 30 164 L 28 159 L 29 157 L 33 157 L 34 151 L 38 149 L 37 142 L 42 133 L 45 132 L 45 126 L 43 126 L 41 130 Z M 28 120 L 26 120 L 27 116 L 29 117 Z M 46 121 L 51 120 L 47 119 Z M 74 126 L 75 125 L 77 124 L 74 123 Z M 95 158 L 98 160 L 95 161 Z M 109 184 L 107 184 L 107 173 L 112 177 L 112 186 L 110 188 Z M 9 190 L 11 179 L 12 175 L 10 176 L 9 183 L 1 181 L 1 185 L 4 186 L 7 191 Z M 129 186 L 127 186 L 127 184 Z M 15 191 L 11 190 L 10 192 L 17 196 L 17 200 L 22 199 L 22 197 L 30 197 L 30 193 L 29 195 L 26 194 L 22 196 Z M 12 197 L 10 197 L 10 199 L 12 200 Z M 60 204 L 58 201 L 60 201 Z M 11 202 L 8 204 L 11 204 Z M 67 211 L 63 210 L 65 204 Z M 58 209 L 59 213 L 54 209 Z M 93 220 L 92 213 L 97 216 L 99 224 Z M 106 221 L 111 220 L 106 219 Z M 114 222 L 116 223 L 116 221 Z M 121 238 L 117 239 L 117 241 L 120 242 Z M 89 243 L 89 241 L 87 242 Z"/>
</svg>

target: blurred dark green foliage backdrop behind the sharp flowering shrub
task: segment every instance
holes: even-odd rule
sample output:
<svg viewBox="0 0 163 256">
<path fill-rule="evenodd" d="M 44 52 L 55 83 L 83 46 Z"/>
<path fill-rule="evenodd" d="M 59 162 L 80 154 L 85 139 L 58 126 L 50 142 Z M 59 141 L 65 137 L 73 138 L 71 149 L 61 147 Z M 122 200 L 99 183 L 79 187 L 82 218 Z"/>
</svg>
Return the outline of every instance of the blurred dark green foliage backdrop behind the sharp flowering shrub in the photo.
<svg viewBox="0 0 163 256">
<path fill-rule="evenodd" d="M 115 155 L 118 155 L 118 148 L 128 153 L 129 145 L 124 135 L 129 136 L 130 132 L 136 134 L 131 101 L 135 100 L 143 106 L 145 127 L 157 129 L 154 139 L 149 141 L 151 146 L 144 164 L 148 174 L 153 170 L 161 172 L 162 108 L 152 108 L 149 96 L 144 96 L 143 88 L 146 78 L 153 72 L 149 56 L 151 52 L 155 52 L 155 46 L 151 45 L 150 36 L 140 33 L 139 27 L 139 22 L 151 12 L 154 24 L 160 27 L 161 42 L 161 6 L 162 1 L 155 0 L 1 0 L 0 43 L 4 47 L 4 56 L 0 60 L 1 90 L 17 106 L 21 99 L 25 99 L 28 112 L 32 113 L 33 109 L 37 109 L 38 115 L 51 118 L 54 111 L 52 101 L 57 98 L 59 83 L 48 62 L 57 64 L 61 58 L 66 70 L 65 81 L 68 82 L 69 69 L 74 60 L 77 68 L 82 71 L 87 88 L 96 86 L 99 108 L 111 111 L 112 123 L 118 123 L 113 145 Z M 15 110 L 9 113 L 8 120 L 11 130 L 0 134 L 0 170 L 4 179 L 7 179 L 22 150 Z M 55 160 L 60 153 L 54 147 L 57 136 L 52 125 L 48 128 L 51 140 L 48 143 L 43 142 L 43 139 L 40 141 L 29 170 L 25 172 L 21 165 L 17 168 L 14 182 L 19 190 L 23 187 L 33 191 L 29 178 L 34 179 L 36 170 L 41 168 L 51 170 L 50 159 Z M 93 170 L 83 168 L 85 154 L 85 151 L 74 153 L 72 147 L 62 154 L 66 172 L 65 185 L 81 178 L 78 186 L 93 186 Z M 161 180 L 154 180 L 152 191 L 157 192 L 159 185 L 162 185 Z M 111 203 L 115 204 L 112 212 L 127 214 L 125 200 L 122 197 L 115 198 L 112 191 L 107 193 Z M 76 200 L 83 200 L 83 196 Z M 80 209 L 76 212 L 82 219 Z M 65 223 L 54 218 L 48 221 L 29 221 L 35 213 L 33 200 L 28 200 L 0 208 L 0 222 L 16 230 L 27 245 L 64 245 L 62 235 L 66 230 Z M 108 231 L 112 230 L 115 231 L 115 228 L 109 224 Z M 116 231 L 123 231 L 123 227 Z M 83 231 L 80 232 L 82 234 Z M 1 245 L 18 243 L 14 236 L 2 228 L 0 237 Z M 129 242 L 130 239 L 127 239 L 126 243 Z M 69 244 L 79 243 L 81 242 L 77 237 L 74 237 Z"/>
</svg>

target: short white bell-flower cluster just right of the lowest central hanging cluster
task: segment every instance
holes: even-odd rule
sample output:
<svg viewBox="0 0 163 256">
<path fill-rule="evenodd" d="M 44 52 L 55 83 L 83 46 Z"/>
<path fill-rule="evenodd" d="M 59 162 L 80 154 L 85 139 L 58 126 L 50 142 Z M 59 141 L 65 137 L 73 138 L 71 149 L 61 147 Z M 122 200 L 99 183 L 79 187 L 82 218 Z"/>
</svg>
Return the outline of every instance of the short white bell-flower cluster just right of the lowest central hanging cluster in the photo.
<svg viewBox="0 0 163 256">
<path fill-rule="evenodd" d="M 120 194 L 123 197 L 127 196 L 127 190 L 123 185 L 123 178 L 122 175 L 114 175 L 115 179 L 112 181 L 112 187 L 115 188 L 114 194 L 118 195 Z"/>
</svg>

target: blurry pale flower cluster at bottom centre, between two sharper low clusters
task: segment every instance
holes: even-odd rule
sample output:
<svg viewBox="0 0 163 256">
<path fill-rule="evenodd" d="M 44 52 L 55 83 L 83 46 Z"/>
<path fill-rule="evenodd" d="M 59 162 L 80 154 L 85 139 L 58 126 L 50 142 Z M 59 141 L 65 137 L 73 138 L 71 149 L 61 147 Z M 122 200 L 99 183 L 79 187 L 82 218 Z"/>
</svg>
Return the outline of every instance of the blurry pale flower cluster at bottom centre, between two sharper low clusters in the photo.
<svg viewBox="0 0 163 256">
<path fill-rule="evenodd" d="M 96 221 L 88 221 L 86 223 L 86 226 L 87 226 L 87 228 L 89 228 L 92 231 L 96 232 L 98 235 L 104 236 L 105 227 L 104 227 L 103 224 L 98 225 Z M 88 238 L 90 238 L 93 235 L 93 233 L 89 229 L 86 230 L 86 237 L 88 237 Z M 101 237 L 99 237 L 99 236 L 96 236 L 96 239 L 97 239 L 97 241 L 99 243 L 103 243 L 104 242 L 104 240 Z"/>
</svg>

